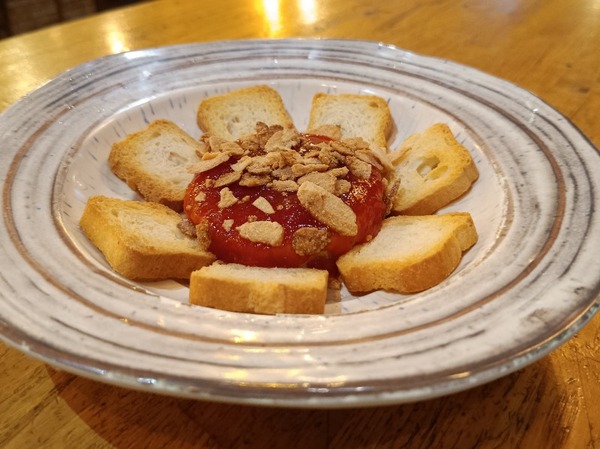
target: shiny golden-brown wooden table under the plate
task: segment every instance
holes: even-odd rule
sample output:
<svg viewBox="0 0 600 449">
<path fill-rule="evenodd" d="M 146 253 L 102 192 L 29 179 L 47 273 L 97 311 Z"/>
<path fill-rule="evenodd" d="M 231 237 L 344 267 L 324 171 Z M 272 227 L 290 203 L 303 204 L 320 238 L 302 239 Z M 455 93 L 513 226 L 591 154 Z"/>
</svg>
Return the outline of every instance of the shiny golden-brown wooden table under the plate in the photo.
<svg viewBox="0 0 600 449">
<path fill-rule="evenodd" d="M 0 41 L 0 109 L 65 69 L 124 50 L 243 38 L 384 41 L 539 95 L 600 145 L 600 2 L 164 0 Z M 600 317 L 550 356 L 417 404 L 286 410 L 155 396 L 56 371 L 0 344 L 3 448 L 592 448 Z"/>
</svg>

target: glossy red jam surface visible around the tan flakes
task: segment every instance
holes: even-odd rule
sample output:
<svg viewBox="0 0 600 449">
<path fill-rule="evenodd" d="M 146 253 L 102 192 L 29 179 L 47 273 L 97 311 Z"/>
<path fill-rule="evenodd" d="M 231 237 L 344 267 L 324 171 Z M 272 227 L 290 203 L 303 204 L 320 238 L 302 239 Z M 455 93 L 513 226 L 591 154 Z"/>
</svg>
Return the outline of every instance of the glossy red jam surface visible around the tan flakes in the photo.
<svg viewBox="0 0 600 449">
<path fill-rule="evenodd" d="M 312 137 L 318 142 L 320 137 Z M 369 179 L 359 179 L 348 173 L 343 179 L 351 183 L 350 190 L 339 196 L 356 214 L 358 232 L 344 236 L 328 229 L 314 218 L 301 204 L 296 192 L 273 190 L 267 185 L 246 187 L 233 183 L 227 187 L 240 199 L 235 204 L 219 208 L 220 188 L 211 187 L 207 179 L 216 180 L 232 170 L 228 162 L 195 176 L 190 183 L 184 200 L 184 210 L 194 224 L 203 223 L 208 227 L 210 246 L 208 250 L 218 259 L 227 263 L 239 263 L 261 267 L 310 266 L 331 269 L 335 260 L 353 246 L 369 241 L 380 230 L 386 211 L 385 187 L 379 170 L 371 170 Z M 199 195 L 200 194 L 200 195 Z M 202 197 L 202 201 L 197 198 Z M 274 213 L 265 213 L 252 203 L 259 197 L 266 199 L 274 208 Z M 240 236 L 236 228 L 252 217 L 257 221 L 276 221 L 284 229 L 283 242 L 278 246 L 250 241 Z M 225 224 L 227 223 L 227 226 Z M 303 227 L 326 229 L 329 243 L 325 252 L 317 255 L 299 255 L 292 246 L 294 232 Z"/>
</svg>

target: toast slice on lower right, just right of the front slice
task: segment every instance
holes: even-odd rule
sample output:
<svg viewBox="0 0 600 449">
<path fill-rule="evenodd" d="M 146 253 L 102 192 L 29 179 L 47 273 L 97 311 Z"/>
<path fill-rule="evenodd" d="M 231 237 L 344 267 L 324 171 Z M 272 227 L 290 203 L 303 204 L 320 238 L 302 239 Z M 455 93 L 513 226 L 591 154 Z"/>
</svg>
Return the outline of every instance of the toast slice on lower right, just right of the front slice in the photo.
<svg viewBox="0 0 600 449">
<path fill-rule="evenodd" d="M 446 279 L 476 242 L 468 213 L 390 217 L 373 240 L 341 256 L 337 266 L 350 291 L 415 293 Z"/>
</svg>

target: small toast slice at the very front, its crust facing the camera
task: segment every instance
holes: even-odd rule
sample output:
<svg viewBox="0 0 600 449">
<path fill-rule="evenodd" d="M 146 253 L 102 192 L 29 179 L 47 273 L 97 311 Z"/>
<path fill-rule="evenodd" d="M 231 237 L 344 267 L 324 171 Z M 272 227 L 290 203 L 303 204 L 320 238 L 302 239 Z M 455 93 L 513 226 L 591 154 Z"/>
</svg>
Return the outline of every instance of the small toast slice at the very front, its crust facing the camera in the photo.
<svg viewBox="0 0 600 449">
<path fill-rule="evenodd" d="M 328 273 L 215 263 L 192 273 L 190 303 L 233 312 L 320 314 Z"/>
</svg>

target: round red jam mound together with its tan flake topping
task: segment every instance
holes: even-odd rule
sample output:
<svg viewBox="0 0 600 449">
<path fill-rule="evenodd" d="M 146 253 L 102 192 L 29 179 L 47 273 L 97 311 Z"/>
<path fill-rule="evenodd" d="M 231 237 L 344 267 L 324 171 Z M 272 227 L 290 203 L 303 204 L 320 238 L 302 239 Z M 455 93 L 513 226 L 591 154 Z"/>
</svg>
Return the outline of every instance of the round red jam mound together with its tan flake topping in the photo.
<svg viewBox="0 0 600 449">
<path fill-rule="evenodd" d="M 389 163 L 362 139 L 257 124 L 235 142 L 203 136 L 184 210 L 220 260 L 332 269 L 381 228 L 391 197 Z M 327 133 L 327 134 L 325 134 Z"/>
</svg>

